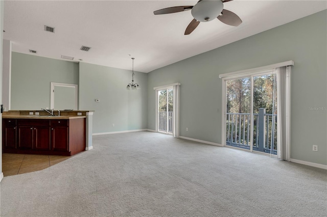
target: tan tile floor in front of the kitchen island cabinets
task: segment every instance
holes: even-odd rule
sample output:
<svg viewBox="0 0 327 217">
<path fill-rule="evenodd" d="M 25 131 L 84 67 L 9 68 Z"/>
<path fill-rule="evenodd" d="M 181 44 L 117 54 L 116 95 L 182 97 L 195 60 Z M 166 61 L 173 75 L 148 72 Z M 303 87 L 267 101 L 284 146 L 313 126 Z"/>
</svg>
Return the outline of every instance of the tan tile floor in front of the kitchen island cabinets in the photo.
<svg viewBox="0 0 327 217">
<path fill-rule="evenodd" d="M 2 172 L 4 176 L 30 173 L 58 164 L 70 156 L 37 154 L 2 154 Z"/>
</svg>

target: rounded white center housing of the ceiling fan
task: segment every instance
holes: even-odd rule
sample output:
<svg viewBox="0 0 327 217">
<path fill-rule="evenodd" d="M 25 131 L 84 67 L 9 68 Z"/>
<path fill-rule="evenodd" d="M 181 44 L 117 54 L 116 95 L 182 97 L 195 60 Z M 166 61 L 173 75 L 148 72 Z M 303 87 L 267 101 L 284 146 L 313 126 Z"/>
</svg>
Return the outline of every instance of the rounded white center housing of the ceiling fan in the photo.
<svg viewBox="0 0 327 217">
<path fill-rule="evenodd" d="M 192 8 L 192 16 L 200 21 L 206 22 L 216 19 L 222 12 L 224 4 L 220 0 L 202 0 Z"/>
</svg>

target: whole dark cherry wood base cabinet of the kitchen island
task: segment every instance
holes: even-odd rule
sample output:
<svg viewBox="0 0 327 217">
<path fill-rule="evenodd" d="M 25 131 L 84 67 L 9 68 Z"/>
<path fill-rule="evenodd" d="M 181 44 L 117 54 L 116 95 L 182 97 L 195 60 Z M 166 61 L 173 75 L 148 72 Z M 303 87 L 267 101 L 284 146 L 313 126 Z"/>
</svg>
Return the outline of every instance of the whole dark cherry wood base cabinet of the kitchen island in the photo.
<svg viewBox="0 0 327 217">
<path fill-rule="evenodd" d="M 85 118 L 3 119 L 4 153 L 71 156 L 85 150 Z"/>
</svg>

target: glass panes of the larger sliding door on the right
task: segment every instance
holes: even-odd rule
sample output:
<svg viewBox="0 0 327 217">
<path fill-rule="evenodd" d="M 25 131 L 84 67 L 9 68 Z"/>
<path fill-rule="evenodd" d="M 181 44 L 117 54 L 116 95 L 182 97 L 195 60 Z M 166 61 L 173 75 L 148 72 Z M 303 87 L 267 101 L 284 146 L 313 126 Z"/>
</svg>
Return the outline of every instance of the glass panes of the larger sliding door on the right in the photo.
<svg viewBox="0 0 327 217">
<path fill-rule="evenodd" d="M 277 154 L 277 80 L 273 70 L 225 82 L 225 144 Z"/>
</svg>

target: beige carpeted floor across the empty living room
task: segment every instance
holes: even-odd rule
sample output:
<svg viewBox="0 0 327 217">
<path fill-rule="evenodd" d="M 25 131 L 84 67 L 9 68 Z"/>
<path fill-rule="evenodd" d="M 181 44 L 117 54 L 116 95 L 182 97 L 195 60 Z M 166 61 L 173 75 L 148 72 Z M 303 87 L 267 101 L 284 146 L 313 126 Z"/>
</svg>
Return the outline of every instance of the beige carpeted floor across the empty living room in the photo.
<svg viewBox="0 0 327 217">
<path fill-rule="evenodd" d="M 1 216 L 326 216 L 327 171 L 153 132 L 4 177 Z"/>
</svg>

